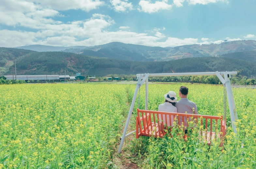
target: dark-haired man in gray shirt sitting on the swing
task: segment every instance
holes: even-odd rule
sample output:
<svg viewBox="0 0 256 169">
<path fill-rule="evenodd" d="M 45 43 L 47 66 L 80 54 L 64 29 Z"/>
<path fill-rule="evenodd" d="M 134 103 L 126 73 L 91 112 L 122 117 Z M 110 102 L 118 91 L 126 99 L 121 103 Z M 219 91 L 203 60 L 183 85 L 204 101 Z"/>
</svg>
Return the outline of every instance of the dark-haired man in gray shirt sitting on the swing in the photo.
<svg viewBox="0 0 256 169">
<path fill-rule="evenodd" d="M 175 104 L 178 113 L 187 112 L 188 114 L 198 114 L 196 104 L 188 100 L 188 87 L 181 86 L 179 90 L 179 96 L 180 96 L 180 100 L 177 101 Z M 190 117 L 189 117 L 189 120 L 191 120 Z M 180 117 L 180 122 L 182 123 L 182 117 Z M 187 117 L 184 117 L 184 126 L 185 126 L 185 134 L 187 134 L 188 133 Z"/>
</svg>

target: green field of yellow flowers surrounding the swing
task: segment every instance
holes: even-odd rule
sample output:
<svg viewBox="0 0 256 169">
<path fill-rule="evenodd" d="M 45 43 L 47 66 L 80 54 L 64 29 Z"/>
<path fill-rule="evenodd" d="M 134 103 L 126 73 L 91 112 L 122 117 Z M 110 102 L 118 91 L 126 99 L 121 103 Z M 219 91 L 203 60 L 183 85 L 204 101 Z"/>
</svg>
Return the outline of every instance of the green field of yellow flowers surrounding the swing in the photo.
<svg viewBox="0 0 256 169">
<path fill-rule="evenodd" d="M 189 88 L 199 114 L 223 114 L 222 85 L 150 84 L 149 110 L 157 110 L 163 95 L 178 93 L 181 85 Z M 134 84 L 104 83 L 0 85 L 0 169 L 119 168 L 116 151 L 134 89 Z M 228 111 L 223 150 L 192 133 L 188 141 L 179 136 L 130 139 L 123 154 L 131 154 L 138 168 L 256 168 L 256 90 L 233 93 L 238 132 L 232 132 Z M 136 101 L 134 112 L 137 107 Z M 134 120 L 135 114 L 130 130 L 135 130 Z"/>
</svg>

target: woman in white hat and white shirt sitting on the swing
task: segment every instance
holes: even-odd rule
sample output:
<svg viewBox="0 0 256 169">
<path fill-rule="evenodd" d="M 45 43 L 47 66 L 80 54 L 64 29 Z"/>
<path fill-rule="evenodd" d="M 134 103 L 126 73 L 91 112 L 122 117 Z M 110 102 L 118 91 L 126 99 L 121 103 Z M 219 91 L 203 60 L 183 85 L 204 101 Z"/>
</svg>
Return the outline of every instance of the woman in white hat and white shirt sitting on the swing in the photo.
<svg viewBox="0 0 256 169">
<path fill-rule="evenodd" d="M 163 104 L 160 104 L 158 106 L 158 111 L 165 111 L 165 112 L 173 112 L 177 113 L 177 108 L 175 107 L 175 102 L 177 101 L 176 93 L 173 91 L 168 92 L 164 95 L 165 102 Z M 165 119 L 165 116 L 163 116 L 163 119 L 161 119 L 161 116 L 159 115 L 160 122 L 164 125 L 167 124 L 167 126 L 170 126 L 170 117 L 167 115 L 167 119 Z M 171 117 L 171 122 L 173 123 L 173 116 Z M 162 124 L 160 124 L 160 131 L 163 131 Z"/>
</svg>

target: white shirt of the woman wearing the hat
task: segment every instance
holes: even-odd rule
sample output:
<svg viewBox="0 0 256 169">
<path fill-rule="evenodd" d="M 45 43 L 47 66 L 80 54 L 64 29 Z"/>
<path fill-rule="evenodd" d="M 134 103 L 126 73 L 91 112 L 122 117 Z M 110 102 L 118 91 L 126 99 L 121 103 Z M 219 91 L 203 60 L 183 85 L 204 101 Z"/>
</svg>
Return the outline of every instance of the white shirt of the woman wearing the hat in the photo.
<svg viewBox="0 0 256 169">
<path fill-rule="evenodd" d="M 172 112 L 177 113 L 177 108 L 172 105 L 172 103 L 164 102 L 158 106 L 158 111 Z M 161 119 L 161 115 L 159 114 L 159 119 Z M 166 124 L 165 115 L 163 115 L 164 124 Z M 173 123 L 173 116 L 171 116 L 171 121 Z M 161 121 L 160 121 L 161 122 Z M 167 126 L 170 126 L 170 117 L 167 115 Z"/>
</svg>

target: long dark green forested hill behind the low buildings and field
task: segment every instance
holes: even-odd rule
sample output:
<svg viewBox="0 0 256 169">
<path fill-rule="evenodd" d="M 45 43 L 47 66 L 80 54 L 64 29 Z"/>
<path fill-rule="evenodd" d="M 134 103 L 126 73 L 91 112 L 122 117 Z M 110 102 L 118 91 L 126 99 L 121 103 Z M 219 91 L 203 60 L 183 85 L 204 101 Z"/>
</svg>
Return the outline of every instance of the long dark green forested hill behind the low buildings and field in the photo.
<svg viewBox="0 0 256 169">
<path fill-rule="evenodd" d="M 105 76 L 107 74 L 215 72 L 240 70 L 241 75 L 256 75 L 256 63 L 224 57 L 188 58 L 173 61 L 138 62 L 78 55 L 67 52 L 35 52 L 0 48 L 0 75 L 11 75 L 16 57 L 17 74 L 67 74 Z"/>
</svg>

